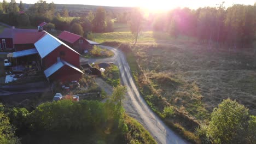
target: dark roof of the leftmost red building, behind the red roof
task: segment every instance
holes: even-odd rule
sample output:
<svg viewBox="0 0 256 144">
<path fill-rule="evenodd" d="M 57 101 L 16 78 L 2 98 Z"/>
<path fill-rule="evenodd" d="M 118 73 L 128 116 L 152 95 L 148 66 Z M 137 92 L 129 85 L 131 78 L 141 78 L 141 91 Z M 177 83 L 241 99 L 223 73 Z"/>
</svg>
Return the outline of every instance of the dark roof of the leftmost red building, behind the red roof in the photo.
<svg viewBox="0 0 256 144">
<path fill-rule="evenodd" d="M 18 33 L 36 33 L 37 29 L 20 29 L 20 28 L 5 28 L 0 34 L 0 38 L 14 38 Z"/>
</svg>

